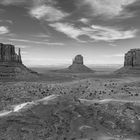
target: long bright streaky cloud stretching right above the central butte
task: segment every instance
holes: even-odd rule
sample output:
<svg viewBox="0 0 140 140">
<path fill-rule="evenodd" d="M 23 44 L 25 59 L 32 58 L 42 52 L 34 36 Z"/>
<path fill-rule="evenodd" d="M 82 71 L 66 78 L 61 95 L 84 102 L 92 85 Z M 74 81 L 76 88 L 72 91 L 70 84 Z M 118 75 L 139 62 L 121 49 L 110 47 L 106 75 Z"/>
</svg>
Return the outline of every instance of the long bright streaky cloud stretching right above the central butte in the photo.
<svg viewBox="0 0 140 140">
<path fill-rule="evenodd" d="M 66 34 L 68 37 L 79 40 L 82 35 L 88 36 L 90 39 L 95 41 L 114 41 L 121 39 L 134 38 L 136 30 L 120 30 L 117 28 L 104 27 L 92 25 L 90 27 L 74 27 L 73 24 L 68 23 L 53 23 L 50 24 L 55 30 Z"/>
</svg>

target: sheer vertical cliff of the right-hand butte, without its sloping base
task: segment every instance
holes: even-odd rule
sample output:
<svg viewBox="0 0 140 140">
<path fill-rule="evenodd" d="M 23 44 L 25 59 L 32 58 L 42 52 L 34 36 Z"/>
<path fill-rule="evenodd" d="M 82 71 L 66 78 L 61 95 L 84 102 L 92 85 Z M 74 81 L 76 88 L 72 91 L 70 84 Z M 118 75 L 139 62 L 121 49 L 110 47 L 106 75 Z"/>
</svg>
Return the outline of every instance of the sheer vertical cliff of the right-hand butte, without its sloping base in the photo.
<svg viewBox="0 0 140 140">
<path fill-rule="evenodd" d="M 131 49 L 125 54 L 125 67 L 140 67 L 140 49 Z"/>
</svg>

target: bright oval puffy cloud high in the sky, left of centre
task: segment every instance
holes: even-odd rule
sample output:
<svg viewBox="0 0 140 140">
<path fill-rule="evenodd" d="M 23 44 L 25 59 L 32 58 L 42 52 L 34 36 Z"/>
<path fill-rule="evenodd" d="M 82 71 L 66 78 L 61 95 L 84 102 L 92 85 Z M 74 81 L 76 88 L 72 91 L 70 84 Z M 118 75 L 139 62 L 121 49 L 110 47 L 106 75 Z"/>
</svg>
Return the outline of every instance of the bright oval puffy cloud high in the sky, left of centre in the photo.
<svg viewBox="0 0 140 140">
<path fill-rule="evenodd" d="M 37 19 L 44 19 L 46 21 L 59 21 L 68 16 L 68 13 L 62 12 L 53 6 L 41 5 L 36 6 L 30 10 L 30 15 Z"/>
</svg>

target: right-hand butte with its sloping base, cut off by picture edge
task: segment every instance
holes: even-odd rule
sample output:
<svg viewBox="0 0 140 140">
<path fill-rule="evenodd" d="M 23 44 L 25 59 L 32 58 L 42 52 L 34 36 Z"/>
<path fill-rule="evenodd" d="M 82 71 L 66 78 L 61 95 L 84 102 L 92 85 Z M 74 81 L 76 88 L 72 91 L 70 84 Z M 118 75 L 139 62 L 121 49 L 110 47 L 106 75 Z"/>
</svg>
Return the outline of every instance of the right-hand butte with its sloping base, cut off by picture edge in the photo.
<svg viewBox="0 0 140 140">
<path fill-rule="evenodd" d="M 140 74 L 140 49 L 131 49 L 125 54 L 124 67 L 116 71 L 117 73 Z"/>
</svg>

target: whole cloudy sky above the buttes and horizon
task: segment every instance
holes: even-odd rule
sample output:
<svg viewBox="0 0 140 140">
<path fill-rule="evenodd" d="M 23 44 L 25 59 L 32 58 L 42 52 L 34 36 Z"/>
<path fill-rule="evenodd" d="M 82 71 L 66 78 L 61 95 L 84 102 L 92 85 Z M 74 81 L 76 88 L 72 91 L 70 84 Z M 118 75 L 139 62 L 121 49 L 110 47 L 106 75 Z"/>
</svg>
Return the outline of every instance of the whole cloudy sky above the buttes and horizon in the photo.
<svg viewBox="0 0 140 140">
<path fill-rule="evenodd" d="M 0 0 L 0 42 L 27 66 L 123 64 L 140 48 L 140 0 Z"/>
</svg>

